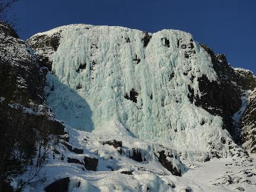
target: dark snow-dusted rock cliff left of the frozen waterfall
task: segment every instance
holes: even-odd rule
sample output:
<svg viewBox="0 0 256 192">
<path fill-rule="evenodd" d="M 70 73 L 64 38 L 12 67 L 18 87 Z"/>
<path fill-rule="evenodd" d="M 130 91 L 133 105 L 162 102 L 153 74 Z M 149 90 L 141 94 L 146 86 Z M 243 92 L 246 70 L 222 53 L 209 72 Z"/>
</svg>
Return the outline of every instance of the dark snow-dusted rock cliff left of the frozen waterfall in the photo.
<svg viewBox="0 0 256 192">
<path fill-rule="evenodd" d="M 0 34 L 0 52 L 2 53 L 0 67 L 4 80 L 1 81 L 1 96 L 9 97 L 24 106 L 28 106 L 30 100 L 37 105 L 42 105 L 45 71 L 42 70 L 39 73 L 35 55 L 27 49 L 22 40 L 16 38 L 11 27 L 0 23 Z"/>
</svg>

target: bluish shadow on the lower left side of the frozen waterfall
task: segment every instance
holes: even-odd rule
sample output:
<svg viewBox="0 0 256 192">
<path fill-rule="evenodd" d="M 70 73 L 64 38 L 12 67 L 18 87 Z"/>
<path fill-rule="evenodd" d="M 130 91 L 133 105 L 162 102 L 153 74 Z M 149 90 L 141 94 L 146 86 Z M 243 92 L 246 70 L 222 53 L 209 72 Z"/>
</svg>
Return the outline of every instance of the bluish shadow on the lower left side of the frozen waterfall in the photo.
<svg viewBox="0 0 256 192">
<path fill-rule="evenodd" d="M 92 132 L 92 111 L 76 88 L 61 83 L 53 74 L 48 74 L 46 86 L 47 105 L 52 108 L 55 118 L 77 130 Z"/>
</svg>

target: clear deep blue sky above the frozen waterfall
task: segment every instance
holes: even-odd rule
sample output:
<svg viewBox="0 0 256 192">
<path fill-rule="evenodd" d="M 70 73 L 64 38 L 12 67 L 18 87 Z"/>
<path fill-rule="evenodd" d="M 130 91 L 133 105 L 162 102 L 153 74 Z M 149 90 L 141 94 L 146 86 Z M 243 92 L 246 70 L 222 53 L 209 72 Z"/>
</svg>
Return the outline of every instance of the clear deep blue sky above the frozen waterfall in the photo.
<svg viewBox="0 0 256 192">
<path fill-rule="evenodd" d="M 183 30 L 256 74 L 255 0 L 21 0 L 14 12 L 21 39 L 74 23 Z"/>
</svg>

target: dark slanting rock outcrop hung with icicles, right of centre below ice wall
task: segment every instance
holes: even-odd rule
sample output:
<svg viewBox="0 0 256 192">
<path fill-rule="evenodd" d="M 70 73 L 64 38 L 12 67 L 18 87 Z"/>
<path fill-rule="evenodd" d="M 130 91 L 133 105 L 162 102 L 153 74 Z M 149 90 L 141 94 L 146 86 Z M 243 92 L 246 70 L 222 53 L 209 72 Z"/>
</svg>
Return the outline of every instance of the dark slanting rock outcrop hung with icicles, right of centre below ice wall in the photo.
<svg viewBox="0 0 256 192">
<path fill-rule="evenodd" d="M 168 158 L 173 158 L 173 155 L 166 155 L 164 150 L 162 150 L 159 153 L 158 161 L 166 168 L 168 171 L 171 172 L 171 174 L 176 176 L 182 176 L 182 172 L 180 170 L 177 170 L 176 167 L 173 166 L 171 162 L 168 161 Z"/>
</svg>

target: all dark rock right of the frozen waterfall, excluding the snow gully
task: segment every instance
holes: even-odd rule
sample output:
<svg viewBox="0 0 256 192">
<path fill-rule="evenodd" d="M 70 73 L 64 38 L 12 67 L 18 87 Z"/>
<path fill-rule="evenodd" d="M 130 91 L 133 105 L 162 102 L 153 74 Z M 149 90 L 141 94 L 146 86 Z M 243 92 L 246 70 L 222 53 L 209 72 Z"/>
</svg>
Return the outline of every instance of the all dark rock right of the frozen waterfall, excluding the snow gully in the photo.
<svg viewBox="0 0 256 192">
<path fill-rule="evenodd" d="M 214 55 L 213 51 L 205 45 L 201 45 L 211 57 L 214 70 L 218 75 L 218 81 L 210 82 L 206 77 L 199 79 L 199 89 L 203 93 L 201 98 L 195 98 L 191 95 L 190 99 L 195 105 L 201 106 L 213 115 L 223 117 L 224 127 L 227 128 L 236 143 L 240 143 L 248 152 L 255 153 L 256 144 L 254 109 L 255 92 L 252 92 L 248 98 L 248 106 L 242 115 L 240 122 L 241 133 L 234 130 L 232 115 L 241 108 L 241 96 L 244 90 L 254 90 L 256 87 L 256 77 L 248 70 L 234 70 L 228 63 L 223 54 Z M 248 143 L 249 144 L 244 144 Z"/>
</svg>

